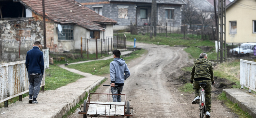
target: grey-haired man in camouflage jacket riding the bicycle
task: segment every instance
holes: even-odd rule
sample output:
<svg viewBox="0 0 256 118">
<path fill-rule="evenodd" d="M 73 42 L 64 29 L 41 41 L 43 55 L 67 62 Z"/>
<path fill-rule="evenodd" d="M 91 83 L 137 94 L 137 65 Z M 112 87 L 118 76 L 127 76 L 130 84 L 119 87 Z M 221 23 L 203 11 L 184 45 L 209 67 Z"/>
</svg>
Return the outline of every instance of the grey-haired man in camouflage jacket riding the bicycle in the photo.
<svg viewBox="0 0 256 118">
<path fill-rule="evenodd" d="M 206 83 L 205 86 L 205 106 L 206 106 L 206 117 L 211 117 L 212 107 L 212 85 L 215 84 L 213 77 L 212 62 L 207 60 L 207 54 L 201 53 L 199 58 L 194 60 L 193 68 L 191 70 L 190 83 L 194 86 L 195 99 L 192 104 L 196 104 L 200 100 L 200 83 Z"/>
</svg>

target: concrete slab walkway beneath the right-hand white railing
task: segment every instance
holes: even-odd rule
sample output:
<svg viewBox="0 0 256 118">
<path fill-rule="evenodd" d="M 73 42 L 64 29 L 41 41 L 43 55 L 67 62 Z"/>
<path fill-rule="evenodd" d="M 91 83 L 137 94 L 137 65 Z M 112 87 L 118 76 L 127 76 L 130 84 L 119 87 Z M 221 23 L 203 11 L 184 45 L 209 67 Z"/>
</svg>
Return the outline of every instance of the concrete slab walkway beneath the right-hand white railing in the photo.
<svg viewBox="0 0 256 118">
<path fill-rule="evenodd" d="M 256 95 L 254 93 L 249 93 L 246 89 L 223 89 L 223 91 L 229 100 L 237 103 L 243 111 L 256 118 Z"/>
</svg>

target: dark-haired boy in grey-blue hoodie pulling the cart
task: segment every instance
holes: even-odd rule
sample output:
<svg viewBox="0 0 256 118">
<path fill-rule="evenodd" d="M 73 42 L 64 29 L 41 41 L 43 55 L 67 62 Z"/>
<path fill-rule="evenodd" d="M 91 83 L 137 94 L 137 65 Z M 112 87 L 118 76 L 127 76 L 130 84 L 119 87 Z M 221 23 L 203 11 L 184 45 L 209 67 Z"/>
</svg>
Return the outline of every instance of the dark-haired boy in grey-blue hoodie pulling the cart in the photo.
<svg viewBox="0 0 256 118">
<path fill-rule="evenodd" d="M 121 52 L 113 50 L 114 61 L 109 64 L 110 84 L 112 94 L 121 94 L 124 87 L 124 80 L 130 77 L 130 70 L 125 60 L 120 58 Z M 113 102 L 121 102 L 121 95 L 112 95 Z"/>
</svg>

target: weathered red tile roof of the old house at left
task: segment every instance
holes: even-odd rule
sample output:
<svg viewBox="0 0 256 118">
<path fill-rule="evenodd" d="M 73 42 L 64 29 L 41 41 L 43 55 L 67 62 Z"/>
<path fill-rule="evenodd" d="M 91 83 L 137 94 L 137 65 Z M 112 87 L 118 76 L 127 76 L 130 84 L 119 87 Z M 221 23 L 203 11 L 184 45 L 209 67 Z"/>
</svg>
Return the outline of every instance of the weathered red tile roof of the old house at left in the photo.
<svg viewBox="0 0 256 118">
<path fill-rule="evenodd" d="M 43 15 L 42 0 L 20 0 L 39 15 Z M 45 17 L 61 24 L 74 23 L 90 30 L 105 30 L 100 24 L 116 24 L 74 0 L 44 0 Z"/>
</svg>

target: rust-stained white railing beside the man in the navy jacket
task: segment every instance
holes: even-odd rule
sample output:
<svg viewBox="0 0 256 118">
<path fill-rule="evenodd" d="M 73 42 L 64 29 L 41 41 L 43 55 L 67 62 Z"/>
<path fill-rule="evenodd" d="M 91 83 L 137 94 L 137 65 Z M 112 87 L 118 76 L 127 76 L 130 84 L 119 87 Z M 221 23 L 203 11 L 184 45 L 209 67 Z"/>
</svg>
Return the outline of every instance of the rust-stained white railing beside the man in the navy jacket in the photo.
<svg viewBox="0 0 256 118">
<path fill-rule="evenodd" d="M 48 63 L 45 67 L 49 68 L 48 49 L 45 52 L 47 52 L 47 55 L 44 53 L 44 64 L 47 65 Z M 18 61 L 0 64 L 0 103 L 28 92 L 28 71 L 25 62 Z M 41 87 L 44 85 L 45 76 L 42 79 Z"/>
</svg>

